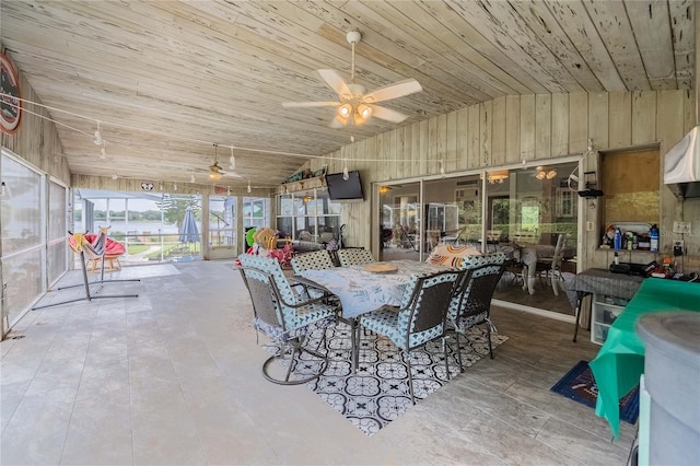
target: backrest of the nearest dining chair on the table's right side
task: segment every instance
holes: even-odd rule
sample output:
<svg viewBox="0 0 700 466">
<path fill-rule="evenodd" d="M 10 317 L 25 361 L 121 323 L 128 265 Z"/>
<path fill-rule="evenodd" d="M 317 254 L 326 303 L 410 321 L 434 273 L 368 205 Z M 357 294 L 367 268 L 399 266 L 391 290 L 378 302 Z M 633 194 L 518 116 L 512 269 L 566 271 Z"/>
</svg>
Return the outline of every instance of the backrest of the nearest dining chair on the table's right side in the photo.
<svg viewBox="0 0 700 466">
<path fill-rule="evenodd" d="M 398 331 L 406 335 L 404 349 L 443 335 L 450 300 L 463 275 L 462 270 L 444 270 L 415 277 L 398 315 Z"/>
</svg>

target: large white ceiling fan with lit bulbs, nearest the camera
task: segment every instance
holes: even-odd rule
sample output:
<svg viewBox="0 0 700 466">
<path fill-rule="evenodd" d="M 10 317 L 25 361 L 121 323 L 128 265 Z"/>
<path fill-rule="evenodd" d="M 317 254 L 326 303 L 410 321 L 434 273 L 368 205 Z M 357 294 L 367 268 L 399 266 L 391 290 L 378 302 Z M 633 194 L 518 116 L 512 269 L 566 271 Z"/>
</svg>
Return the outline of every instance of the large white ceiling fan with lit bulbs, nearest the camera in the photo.
<svg viewBox="0 0 700 466">
<path fill-rule="evenodd" d="M 362 35 L 358 31 L 351 31 L 347 35 L 348 43 L 352 46 L 352 67 L 350 83 L 340 77 L 336 70 L 316 70 L 320 78 L 338 94 L 338 102 L 285 102 L 284 107 L 338 107 L 336 117 L 330 123 L 334 128 L 340 128 L 348 124 L 364 125 L 371 117 L 381 118 L 392 123 L 401 123 L 408 115 L 390 108 L 376 105 L 377 102 L 389 101 L 405 95 L 420 92 L 423 89 L 415 79 L 407 79 L 376 91 L 366 93 L 362 84 L 354 82 L 354 46 Z"/>
</svg>

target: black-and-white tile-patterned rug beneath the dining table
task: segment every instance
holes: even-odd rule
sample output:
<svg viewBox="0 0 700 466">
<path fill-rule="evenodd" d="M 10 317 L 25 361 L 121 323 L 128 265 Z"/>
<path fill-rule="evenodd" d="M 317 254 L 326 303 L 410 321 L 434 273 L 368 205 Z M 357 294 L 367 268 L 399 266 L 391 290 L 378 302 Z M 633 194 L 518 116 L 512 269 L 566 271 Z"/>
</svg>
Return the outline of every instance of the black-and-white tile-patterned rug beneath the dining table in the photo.
<svg viewBox="0 0 700 466">
<path fill-rule="evenodd" d="M 310 347 L 315 347 L 317 338 L 320 338 L 320 334 L 316 334 L 316 338 L 310 338 Z M 481 358 L 489 358 L 486 330 L 475 328 L 468 337 L 468 342 L 464 337 L 459 338 L 462 362 L 465 368 Z M 350 327 L 338 324 L 337 327 L 327 330 L 326 338 L 330 351 L 328 370 L 307 385 L 358 429 L 372 435 L 413 406 L 408 388 L 406 356 L 388 338 L 362 333 L 355 374 L 351 371 Z M 494 348 L 505 340 L 508 337 L 491 335 Z M 456 341 L 453 337 L 447 341 L 450 373 L 455 377 L 459 375 Z M 424 349 L 412 351 L 410 361 L 416 403 L 420 403 L 448 383 L 440 340 Z M 303 374 L 308 373 L 307 371 L 314 372 L 316 368 L 315 363 L 302 363 L 298 364 L 294 372 Z"/>
</svg>

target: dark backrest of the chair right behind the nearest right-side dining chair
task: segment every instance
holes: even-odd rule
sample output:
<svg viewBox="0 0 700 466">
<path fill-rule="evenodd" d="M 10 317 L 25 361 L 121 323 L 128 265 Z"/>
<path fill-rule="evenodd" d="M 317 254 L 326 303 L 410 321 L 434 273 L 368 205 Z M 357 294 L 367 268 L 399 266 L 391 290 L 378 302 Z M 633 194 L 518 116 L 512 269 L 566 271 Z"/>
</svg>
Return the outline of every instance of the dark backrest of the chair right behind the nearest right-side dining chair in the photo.
<svg viewBox="0 0 700 466">
<path fill-rule="evenodd" d="M 483 264 L 468 269 L 450 305 L 450 318 L 474 324 L 485 322 L 491 313 L 491 299 L 505 266 Z M 456 305 L 455 305 L 456 304 Z"/>
</svg>

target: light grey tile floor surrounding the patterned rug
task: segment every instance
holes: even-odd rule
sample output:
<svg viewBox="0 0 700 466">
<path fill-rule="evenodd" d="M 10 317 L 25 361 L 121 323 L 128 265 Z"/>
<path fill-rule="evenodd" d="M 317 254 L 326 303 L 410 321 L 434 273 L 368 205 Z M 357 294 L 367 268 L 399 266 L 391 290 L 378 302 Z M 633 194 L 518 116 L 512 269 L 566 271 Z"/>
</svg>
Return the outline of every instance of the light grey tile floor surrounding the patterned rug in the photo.
<svg viewBox="0 0 700 466">
<path fill-rule="evenodd" d="M 0 343 L 2 465 L 625 464 L 593 410 L 549 392 L 598 347 L 571 325 L 493 310 L 510 339 L 368 438 L 305 386 L 266 382 L 231 261 L 125 268 L 140 282 L 30 312 Z M 94 276 L 93 276 L 94 277 Z M 63 283 L 79 282 L 71 272 Z M 81 289 L 48 300 L 80 296 Z"/>
</svg>

